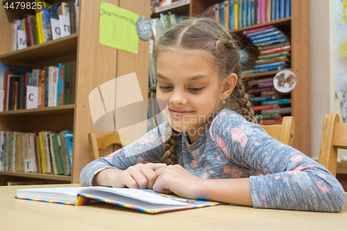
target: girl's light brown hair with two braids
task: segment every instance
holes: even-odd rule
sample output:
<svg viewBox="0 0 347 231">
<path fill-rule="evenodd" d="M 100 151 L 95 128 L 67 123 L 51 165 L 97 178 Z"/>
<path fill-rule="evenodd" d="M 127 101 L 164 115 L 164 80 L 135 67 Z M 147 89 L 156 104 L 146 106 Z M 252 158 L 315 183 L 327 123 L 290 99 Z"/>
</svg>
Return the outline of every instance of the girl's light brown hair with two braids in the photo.
<svg viewBox="0 0 347 231">
<path fill-rule="evenodd" d="M 219 22 L 206 18 L 188 19 L 170 28 L 155 44 L 153 51 L 156 63 L 158 53 L 165 50 L 187 49 L 208 55 L 217 65 L 221 78 L 237 74 L 237 84 L 222 107 L 241 114 L 247 121 L 257 123 L 251 103 L 248 101 L 245 83 L 242 78 L 239 47 L 237 40 Z M 172 129 L 166 124 L 165 134 Z M 176 136 L 172 129 L 171 137 L 166 137 L 164 158 L 166 163 L 176 164 Z"/>
</svg>

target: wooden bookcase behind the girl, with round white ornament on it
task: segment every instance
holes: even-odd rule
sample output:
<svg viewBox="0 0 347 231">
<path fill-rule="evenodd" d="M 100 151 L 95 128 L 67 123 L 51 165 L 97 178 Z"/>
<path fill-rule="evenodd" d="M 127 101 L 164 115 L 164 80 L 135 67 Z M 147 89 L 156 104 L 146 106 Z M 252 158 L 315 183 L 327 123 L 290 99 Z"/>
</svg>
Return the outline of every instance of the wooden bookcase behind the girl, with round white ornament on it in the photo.
<svg viewBox="0 0 347 231">
<path fill-rule="evenodd" d="M 186 14 L 189 9 L 189 17 L 201 17 L 206 8 L 220 2 L 221 0 L 190 0 L 189 8 L 183 6 L 162 13 L 167 14 L 171 11 L 176 14 Z M 152 16 L 160 17 L 160 14 L 155 13 Z M 310 1 L 292 0 L 291 17 L 239 28 L 230 33 L 242 37 L 242 31 L 267 25 L 277 26 L 291 36 L 291 71 L 297 78 L 296 87 L 291 92 L 291 116 L 295 119 L 294 148 L 311 156 Z M 244 39 L 244 45 L 248 46 L 249 40 Z M 251 57 L 255 53 L 257 51 L 253 49 Z M 270 71 L 244 78 L 269 77 L 275 76 L 276 73 L 277 71 Z"/>
</svg>

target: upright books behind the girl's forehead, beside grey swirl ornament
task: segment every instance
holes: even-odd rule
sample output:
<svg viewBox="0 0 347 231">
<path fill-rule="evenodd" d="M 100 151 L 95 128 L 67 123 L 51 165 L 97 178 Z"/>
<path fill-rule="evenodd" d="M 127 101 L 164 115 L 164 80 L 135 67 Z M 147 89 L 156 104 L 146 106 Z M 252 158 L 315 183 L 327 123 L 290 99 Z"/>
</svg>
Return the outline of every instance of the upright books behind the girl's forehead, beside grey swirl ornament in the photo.
<svg viewBox="0 0 347 231">
<path fill-rule="evenodd" d="M 160 18 L 151 19 L 153 36 L 149 41 L 149 87 L 156 87 L 157 78 L 155 75 L 155 67 L 154 67 L 154 59 L 153 59 L 153 49 L 154 44 L 158 41 L 159 37 L 164 35 L 164 33 L 171 28 L 171 26 L 175 26 L 179 22 L 182 22 L 185 17 L 181 17 L 175 14 L 169 15 L 160 14 Z"/>
</svg>

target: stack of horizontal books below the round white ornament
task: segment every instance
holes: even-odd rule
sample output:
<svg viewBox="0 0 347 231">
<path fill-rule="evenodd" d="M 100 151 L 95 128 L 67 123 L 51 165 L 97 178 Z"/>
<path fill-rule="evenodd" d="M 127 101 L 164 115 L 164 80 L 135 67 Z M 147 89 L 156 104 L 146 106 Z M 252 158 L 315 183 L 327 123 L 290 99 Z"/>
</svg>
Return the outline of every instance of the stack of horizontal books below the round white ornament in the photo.
<svg viewBox="0 0 347 231">
<path fill-rule="evenodd" d="M 282 118 L 291 114 L 290 94 L 278 92 L 273 87 L 273 77 L 253 79 L 248 82 L 253 90 L 249 101 L 255 111 L 258 123 L 281 123 Z"/>
</svg>

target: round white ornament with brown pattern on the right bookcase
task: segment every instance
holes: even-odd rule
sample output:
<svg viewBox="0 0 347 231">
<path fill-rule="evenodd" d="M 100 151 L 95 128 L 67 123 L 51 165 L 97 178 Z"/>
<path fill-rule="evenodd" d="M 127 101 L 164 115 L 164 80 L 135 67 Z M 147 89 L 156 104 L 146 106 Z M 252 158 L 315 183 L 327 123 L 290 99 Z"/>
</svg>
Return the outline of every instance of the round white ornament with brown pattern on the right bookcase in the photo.
<svg viewBox="0 0 347 231">
<path fill-rule="evenodd" d="M 283 70 L 278 72 L 275 77 L 273 77 L 273 87 L 275 87 L 278 92 L 288 93 L 294 89 L 296 85 L 296 76 L 293 71 Z"/>
</svg>

